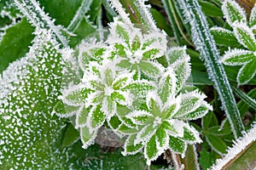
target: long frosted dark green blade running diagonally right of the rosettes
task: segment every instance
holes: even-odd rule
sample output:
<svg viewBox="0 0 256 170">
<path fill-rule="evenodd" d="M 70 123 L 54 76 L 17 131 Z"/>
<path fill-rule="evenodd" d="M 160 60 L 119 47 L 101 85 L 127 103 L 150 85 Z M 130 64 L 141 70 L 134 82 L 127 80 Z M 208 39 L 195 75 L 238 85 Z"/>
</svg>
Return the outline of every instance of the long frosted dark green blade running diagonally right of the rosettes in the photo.
<svg viewBox="0 0 256 170">
<path fill-rule="evenodd" d="M 183 10 L 183 15 L 191 26 L 192 40 L 197 50 L 201 52 L 201 58 L 205 61 L 208 76 L 218 91 L 232 131 L 235 137 L 238 138 L 244 131 L 244 127 L 224 67 L 218 63 L 220 56 L 210 34 L 207 18 L 201 11 L 197 0 L 178 0 L 177 5 Z"/>
</svg>

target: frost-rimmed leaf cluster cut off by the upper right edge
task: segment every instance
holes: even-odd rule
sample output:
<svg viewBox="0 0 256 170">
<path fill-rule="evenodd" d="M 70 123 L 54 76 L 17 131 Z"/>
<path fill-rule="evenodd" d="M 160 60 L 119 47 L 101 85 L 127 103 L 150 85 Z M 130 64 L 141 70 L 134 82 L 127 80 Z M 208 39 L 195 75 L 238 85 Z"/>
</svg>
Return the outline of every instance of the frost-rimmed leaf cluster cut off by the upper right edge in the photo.
<svg viewBox="0 0 256 170">
<path fill-rule="evenodd" d="M 256 5 L 254 5 L 247 20 L 247 14 L 236 1 L 226 0 L 222 5 L 224 18 L 232 30 L 222 27 L 212 27 L 211 31 L 220 45 L 234 46 L 238 48 L 225 51 L 219 61 L 224 65 L 241 65 L 236 81 L 238 84 L 246 84 L 256 74 Z"/>
</svg>

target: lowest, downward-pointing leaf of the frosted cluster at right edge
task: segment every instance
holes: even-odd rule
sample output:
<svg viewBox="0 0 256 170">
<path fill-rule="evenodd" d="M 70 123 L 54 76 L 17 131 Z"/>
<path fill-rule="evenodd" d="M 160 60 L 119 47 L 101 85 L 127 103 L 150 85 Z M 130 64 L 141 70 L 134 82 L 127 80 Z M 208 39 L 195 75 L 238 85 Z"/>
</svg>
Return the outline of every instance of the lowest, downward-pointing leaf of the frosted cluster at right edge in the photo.
<svg viewBox="0 0 256 170">
<path fill-rule="evenodd" d="M 256 74 L 255 65 L 256 59 L 253 59 L 251 62 L 241 67 L 237 75 L 237 82 L 239 84 L 246 84 L 251 79 L 253 79 Z"/>
</svg>

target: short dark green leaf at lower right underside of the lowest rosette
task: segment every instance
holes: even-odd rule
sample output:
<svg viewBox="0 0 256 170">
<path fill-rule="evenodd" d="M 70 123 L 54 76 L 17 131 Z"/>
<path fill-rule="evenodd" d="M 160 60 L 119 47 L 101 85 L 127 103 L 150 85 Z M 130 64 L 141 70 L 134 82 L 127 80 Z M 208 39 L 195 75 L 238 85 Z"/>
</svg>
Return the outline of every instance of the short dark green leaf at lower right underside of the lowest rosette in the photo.
<svg viewBox="0 0 256 170">
<path fill-rule="evenodd" d="M 178 137 L 175 138 L 173 136 L 169 136 L 169 138 L 170 149 L 178 154 L 183 154 L 183 152 L 186 150 L 186 144 L 184 143 L 183 139 Z"/>
</svg>

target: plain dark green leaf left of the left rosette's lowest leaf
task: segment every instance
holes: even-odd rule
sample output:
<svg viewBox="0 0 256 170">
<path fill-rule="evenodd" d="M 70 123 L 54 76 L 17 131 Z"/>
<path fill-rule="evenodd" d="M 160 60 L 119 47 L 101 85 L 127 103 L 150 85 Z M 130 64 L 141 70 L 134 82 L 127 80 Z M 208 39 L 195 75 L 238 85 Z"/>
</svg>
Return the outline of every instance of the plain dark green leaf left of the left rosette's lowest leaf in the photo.
<svg viewBox="0 0 256 170">
<path fill-rule="evenodd" d="M 62 138 L 62 147 L 67 147 L 79 140 L 79 131 L 73 127 L 72 123 L 68 123 Z"/>
</svg>

